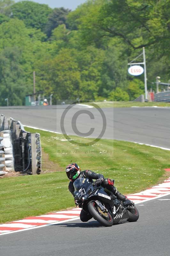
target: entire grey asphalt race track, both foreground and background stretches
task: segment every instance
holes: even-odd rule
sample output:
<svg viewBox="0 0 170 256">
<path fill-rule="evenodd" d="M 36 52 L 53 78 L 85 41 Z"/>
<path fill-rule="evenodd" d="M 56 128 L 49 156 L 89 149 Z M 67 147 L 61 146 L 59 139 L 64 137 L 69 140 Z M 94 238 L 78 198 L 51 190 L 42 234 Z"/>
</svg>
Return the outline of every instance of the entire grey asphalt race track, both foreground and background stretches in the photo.
<svg viewBox="0 0 170 256">
<path fill-rule="evenodd" d="M 19 119 L 23 124 L 61 132 L 56 123 L 65 108 L 66 106 L 60 109 L 56 106 L 48 108 L 1 107 L 0 113 Z M 96 109 L 89 108 L 88 110 L 94 115 L 97 113 Z M 74 114 L 76 110 L 73 108 L 69 111 Z M 170 148 L 169 108 L 115 108 L 114 111 L 112 108 L 103 108 L 103 111 L 107 119 L 104 138 L 136 141 Z M 69 129 L 71 131 L 70 119 L 66 118 L 65 121 L 67 133 L 69 133 Z M 84 122 L 86 122 L 85 126 Z M 90 120 L 87 115 L 86 119 L 81 116 L 77 119 L 81 131 L 87 132 L 88 127 L 95 127 L 95 134 L 97 134 L 101 120 L 96 118 L 91 126 L 92 122 L 93 120 Z M 0 236 L 0 255 L 169 256 L 170 195 L 136 206 L 140 217 L 134 223 L 127 222 L 106 228 L 101 227 L 93 219 L 88 223 L 75 220 Z"/>
</svg>

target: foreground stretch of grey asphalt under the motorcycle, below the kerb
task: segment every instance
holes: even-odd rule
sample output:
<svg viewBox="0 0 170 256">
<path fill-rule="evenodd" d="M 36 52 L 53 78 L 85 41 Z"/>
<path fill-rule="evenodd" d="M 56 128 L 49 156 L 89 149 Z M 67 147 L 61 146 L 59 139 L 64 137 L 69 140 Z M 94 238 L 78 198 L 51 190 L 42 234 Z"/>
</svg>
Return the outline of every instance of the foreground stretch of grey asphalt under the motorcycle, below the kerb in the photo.
<svg viewBox="0 0 170 256">
<path fill-rule="evenodd" d="M 1 236 L 1 256 L 169 256 L 170 195 L 143 202 L 137 222 L 69 221 Z M 163 210 L 161 210 L 163 209 Z"/>
</svg>

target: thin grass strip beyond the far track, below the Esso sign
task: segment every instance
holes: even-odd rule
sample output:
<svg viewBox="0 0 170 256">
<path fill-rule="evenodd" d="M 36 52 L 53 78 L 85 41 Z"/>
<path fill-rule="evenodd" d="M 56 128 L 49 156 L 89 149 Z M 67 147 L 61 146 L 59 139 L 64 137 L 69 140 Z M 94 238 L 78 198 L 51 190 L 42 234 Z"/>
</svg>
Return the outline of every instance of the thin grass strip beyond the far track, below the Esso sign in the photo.
<svg viewBox="0 0 170 256">
<path fill-rule="evenodd" d="M 170 102 L 132 102 L 132 101 L 98 101 L 84 103 L 94 106 L 94 103 L 100 108 L 130 108 L 130 107 L 170 107 Z"/>
</svg>

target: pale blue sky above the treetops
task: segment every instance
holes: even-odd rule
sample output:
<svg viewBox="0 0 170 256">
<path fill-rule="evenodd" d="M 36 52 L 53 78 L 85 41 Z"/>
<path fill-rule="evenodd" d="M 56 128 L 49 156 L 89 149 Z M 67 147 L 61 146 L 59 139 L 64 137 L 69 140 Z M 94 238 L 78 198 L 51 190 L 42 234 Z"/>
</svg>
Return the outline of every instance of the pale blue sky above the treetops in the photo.
<svg viewBox="0 0 170 256">
<path fill-rule="evenodd" d="M 33 2 L 39 4 L 48 4 L 51 8 L 56 7 L 65 7 L 66 9 L 75 10 L 76 7 L 80 4 L 86 2 L 86 0 L 31 0 Z M 15 0 L 15 2 L 19 2 L 19 0 Z"/>
</svg>

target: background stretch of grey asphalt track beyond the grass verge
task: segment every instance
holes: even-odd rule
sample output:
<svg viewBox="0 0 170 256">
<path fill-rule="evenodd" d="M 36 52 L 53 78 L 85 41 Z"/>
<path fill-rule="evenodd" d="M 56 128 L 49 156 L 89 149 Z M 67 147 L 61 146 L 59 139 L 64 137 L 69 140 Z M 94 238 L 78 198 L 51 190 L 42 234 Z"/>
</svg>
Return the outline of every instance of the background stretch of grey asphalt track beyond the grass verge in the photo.
<svg viewBox="0 0 170 256">
<path fill-rule="evenodd" d="M 22 124 L 35 126 L 54 132 L 61 132 L 60 118 L 67 105 L 48 107 L 0 107 L 0 113 L 21 121 Z M 80 109 L 71 108 L 64 120 L 67 134 L 74 135 L 71 121 L 73 115 Z M 96 108 L 86 110 L 94 114 L 91 120 L 87 114 L 77 118 L 77 128 L 88 132 L 94 127 L 89 137 L 96 138 L 102 129 L 103 120 Z M 159 147 L 170 147 L 170 108 L 103 108 L 106 116 L 106 132 L 103 138 L 127 140 L 151 144 Z M 114 120 L 114 122 L 113 122 Z"/>
</svg>

